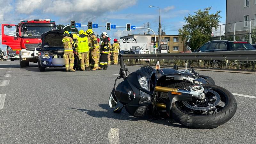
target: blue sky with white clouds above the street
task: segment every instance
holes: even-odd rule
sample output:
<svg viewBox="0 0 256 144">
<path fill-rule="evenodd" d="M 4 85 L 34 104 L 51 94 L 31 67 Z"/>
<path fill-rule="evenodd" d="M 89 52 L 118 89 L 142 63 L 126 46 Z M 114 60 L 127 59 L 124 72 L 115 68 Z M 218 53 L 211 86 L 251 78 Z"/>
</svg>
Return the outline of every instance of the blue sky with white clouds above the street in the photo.
<svg viewBox="0 0 256 144">
<path fill-rule="evenodd" d="M 0 24 L 17 25 L 20 20 L 52 19 L 56 25 L 70 24 L 70 20 L 75 20 L 82 25 L 92 21 L 98 25 L 111 22 L 116 26 L 131 23 L 136 27 L 144 27 L 144 24 L 147 27 L 149 22 L 149 28 L 157 33 L 159 9 L 149 8 L 149 5 L 160 8 L 161 24 L 167 35 L 178 35 L 178 29 L 185 24 L 184 17 L 207 7 L 212 7 L 211 13 L 221 11 L 220 24 L 225 24 L 226 0 L 0 0 Z M 80 29 L 87 30 L 87 27 Z M 93 31 L 96 35 L 106 31 L 113 40 L 128 34 L 143 34 L 147 30 L 116 28 L 109 31 L 99 27 L 93 28 Z M 2 37 L 0 40 L 3 50 Z"/>
</svg>

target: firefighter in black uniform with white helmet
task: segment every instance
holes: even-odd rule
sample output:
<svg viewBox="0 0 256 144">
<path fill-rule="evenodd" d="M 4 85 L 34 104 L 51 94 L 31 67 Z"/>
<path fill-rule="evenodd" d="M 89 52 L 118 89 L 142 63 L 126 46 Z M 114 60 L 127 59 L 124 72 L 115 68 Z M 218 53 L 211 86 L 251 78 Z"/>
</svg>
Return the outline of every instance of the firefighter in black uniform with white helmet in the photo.
<svg viewBox="0 0 256 144">
<path fill-rule="evenodd" d="M 100 46 L 100 68 L 107 69 L 108 68 L 108 54 L 109 54 L 109 47 L 108 47 L 108 34 L 103 32 L 102 36 L 102 43 Z"/>
</svg>

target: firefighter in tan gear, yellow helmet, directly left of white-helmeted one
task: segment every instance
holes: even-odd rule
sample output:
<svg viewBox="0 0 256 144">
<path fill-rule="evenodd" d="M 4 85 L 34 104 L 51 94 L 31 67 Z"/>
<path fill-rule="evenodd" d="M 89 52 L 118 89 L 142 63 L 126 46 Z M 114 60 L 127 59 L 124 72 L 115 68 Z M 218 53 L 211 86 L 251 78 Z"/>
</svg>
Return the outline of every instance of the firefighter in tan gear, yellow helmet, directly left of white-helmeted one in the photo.
<svg viewBox="0 0 256 144">
<path fill-rule="evenodd" d="M 92 45 L 92 49 L 90 50 L 91 57 L 92 57 L 90 66 L 91 66 L 92 70 L 97 70 L 98 69 L 97 52 L 99 52 L 97 37 L 94 35 L 92 29 L 86 30 L 86 33 L 90 37 L 90 41 L 91 41 L 91 45 Z"/>
</svg>

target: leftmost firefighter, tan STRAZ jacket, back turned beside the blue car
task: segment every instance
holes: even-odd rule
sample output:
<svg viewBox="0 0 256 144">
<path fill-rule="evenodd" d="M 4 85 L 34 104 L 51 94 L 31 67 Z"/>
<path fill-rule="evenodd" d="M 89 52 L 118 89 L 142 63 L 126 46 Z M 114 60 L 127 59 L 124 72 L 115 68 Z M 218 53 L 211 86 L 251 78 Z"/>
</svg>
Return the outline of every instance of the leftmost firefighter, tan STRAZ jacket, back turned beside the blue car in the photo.
<svg viewBox="0 0 256 144">
<path fill-rule="evenodd" d="M 73 39 L 69 36 L 68 31 L 65 31 L 63 34 L 62 42 L 64 46 L 64 55 L 63 58 L 66 60 L 65 67 L 66 71 L 76 71 L 74 68 L 75 56 L 73 52 L 73 47 L 75 47 L 75 43 Z"/>
</svg>

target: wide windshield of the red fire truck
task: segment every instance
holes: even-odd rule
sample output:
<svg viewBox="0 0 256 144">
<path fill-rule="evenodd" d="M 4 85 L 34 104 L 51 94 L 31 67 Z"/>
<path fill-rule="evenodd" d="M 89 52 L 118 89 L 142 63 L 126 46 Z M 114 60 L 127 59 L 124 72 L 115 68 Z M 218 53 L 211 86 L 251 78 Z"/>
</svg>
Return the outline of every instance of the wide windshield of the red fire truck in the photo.
<svg viewBox="0 0 256 144">
<path fill-rule="evenodd" d="M 22 37 L 40 38 L 43 33 L 55 30 L 55 24 L 50 23 L 27 23 L 22 26 Z"/>
</svg>

